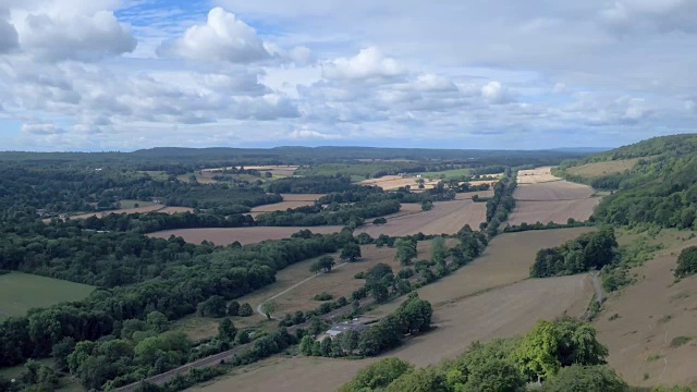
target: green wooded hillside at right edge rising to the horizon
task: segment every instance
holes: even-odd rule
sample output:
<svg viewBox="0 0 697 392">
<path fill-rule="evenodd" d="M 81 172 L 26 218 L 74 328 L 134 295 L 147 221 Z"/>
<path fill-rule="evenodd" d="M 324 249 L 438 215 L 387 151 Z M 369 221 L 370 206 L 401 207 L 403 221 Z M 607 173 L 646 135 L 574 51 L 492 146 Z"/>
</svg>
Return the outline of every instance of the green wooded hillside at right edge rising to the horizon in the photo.
<svg viewBox="0 0 697 392">
<path fill-rule="evenodd" d="M 635 163 L 625 170 L 627 161 Z M 592 166 L 603 166 L 604 173 Z M 656 137 L 577 161 L 564 161 L 557 174 L 595 188 L 614 191 L 596 208 L 594 219 L 614 224 L 655 223 L 694 228 L 697 210 L 697 135 Z"/>
</svg>

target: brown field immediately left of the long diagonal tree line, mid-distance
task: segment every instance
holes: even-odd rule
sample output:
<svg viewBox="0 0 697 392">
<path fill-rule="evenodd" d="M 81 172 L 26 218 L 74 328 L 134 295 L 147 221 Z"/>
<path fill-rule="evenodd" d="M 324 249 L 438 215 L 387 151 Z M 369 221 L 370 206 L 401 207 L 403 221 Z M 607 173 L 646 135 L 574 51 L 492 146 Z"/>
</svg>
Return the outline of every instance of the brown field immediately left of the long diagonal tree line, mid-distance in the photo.
<svg viewBox="0 0 697 392">
<path fill-rule="evenodd" d="M 357 233 L 368 233 L 372 237 L 380 234 L 391 236 L 424 234 L 454 234 L 465 224 L 477 229 L 486 220 L 487 206 L 485 203 L 472 200 L 438 201 L 433 209 L 392 218 L 387 224 L 367 224 L 356 230 Z"/>
</svg>

